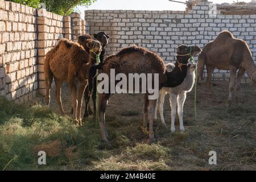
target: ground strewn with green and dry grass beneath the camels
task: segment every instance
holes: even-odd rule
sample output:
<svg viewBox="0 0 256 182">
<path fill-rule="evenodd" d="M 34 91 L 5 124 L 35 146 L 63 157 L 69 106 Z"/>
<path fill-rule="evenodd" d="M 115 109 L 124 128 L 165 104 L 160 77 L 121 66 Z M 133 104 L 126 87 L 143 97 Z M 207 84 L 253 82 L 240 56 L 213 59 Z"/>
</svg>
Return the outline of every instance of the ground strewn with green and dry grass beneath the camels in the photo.
<svg viewBox="0 0 256 182">
<path fill-rule="evenodd" d="M 7 108 L 0 112 L 5 118 L 0 120 L 0 169 L 17 156 L 6 169 L 256 170 L 256 86 L 242 85 L 238 104 L 227 108 L 226 85 L 220 82 L 214 86 L 222 104 L 214 103 L 205 86 L 199 86 L 197 122 L 190 93 L 184 106 L 185 132 L 180 133 L 177 125 L 176 133 L 171 134 L 158 119 L 154 123 L 157 142 L 153 144 L 145 143 L 147 135 L 140 130 L 141 95 L 110 98 L 106 113 L 110 144 L 100 142 L 100 130 L 92 118 L 85 119 L 84 126 L 77 129 L 68 117 L 55 114 L 59 110 L 54 107 L 54 96 L 54 112 L 33 106 L 30 112 L 19 109 L 12 112 L 22 114 L 10 114 Z M 65 98 L 69 98 L 69 92 L 63 90 L 64 108 L 69 111 L 69 100 Z M 164 117 L 168 126 L 169 108 L 166 101 Z M 36 150 L 49 150 L 50 154 L 54 151 L 47 166 L 36 164 Z M 217 152 L 216 166 L 208 164 L 212 150 Z"/>
</svg>

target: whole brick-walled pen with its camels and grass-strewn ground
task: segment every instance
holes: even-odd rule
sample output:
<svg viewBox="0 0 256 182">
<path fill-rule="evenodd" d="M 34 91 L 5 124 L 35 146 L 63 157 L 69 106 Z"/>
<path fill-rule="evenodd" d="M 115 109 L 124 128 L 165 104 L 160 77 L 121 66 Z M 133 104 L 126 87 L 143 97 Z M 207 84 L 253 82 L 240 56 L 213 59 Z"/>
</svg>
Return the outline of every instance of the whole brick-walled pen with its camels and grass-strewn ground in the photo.
<svg viewBox="0 0 256 182">
<path fill-rule="evenodd" d="M 255 170 L 256 2 L 186 3 L 83 20 L 0 0 L 0 169 Z M 159 74 L 158 102 L 96 92 L 111 69 Z"/>
</svg>

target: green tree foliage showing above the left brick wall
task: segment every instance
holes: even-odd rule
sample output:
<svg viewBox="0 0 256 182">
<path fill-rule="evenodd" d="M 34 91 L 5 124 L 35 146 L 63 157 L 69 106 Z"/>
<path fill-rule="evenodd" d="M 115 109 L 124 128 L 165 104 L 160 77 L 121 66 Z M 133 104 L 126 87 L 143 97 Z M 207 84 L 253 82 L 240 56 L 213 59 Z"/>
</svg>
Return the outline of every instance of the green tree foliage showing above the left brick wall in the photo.
<svg viewBox="0 0 256 182">
<path fill-rule="evenodd" d="M 96 0 L 10 0 L 23 5 L 37 8 L 40 3 L 46 5 L 47 11 L 59 15 L 69 15 L 75 11 L 77 6 L 88 7 Z"/>
</svg>

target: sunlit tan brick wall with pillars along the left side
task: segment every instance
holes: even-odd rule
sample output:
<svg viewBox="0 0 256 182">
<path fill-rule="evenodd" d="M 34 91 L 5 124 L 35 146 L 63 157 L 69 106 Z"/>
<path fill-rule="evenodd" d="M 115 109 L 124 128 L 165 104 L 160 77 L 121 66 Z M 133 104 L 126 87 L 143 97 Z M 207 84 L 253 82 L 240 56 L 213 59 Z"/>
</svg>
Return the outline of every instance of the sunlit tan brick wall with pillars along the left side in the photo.
<svg viewBox="0 0 256 182">
<path fill-rule="evenodd" d="M 0 95 L 16 103 L 45 95 L 44 59 L 61 38 L 84 32 L 84 20 L 0 0 Z M 77 35 L 76 35 L 77 36 Z"/>
</svg>

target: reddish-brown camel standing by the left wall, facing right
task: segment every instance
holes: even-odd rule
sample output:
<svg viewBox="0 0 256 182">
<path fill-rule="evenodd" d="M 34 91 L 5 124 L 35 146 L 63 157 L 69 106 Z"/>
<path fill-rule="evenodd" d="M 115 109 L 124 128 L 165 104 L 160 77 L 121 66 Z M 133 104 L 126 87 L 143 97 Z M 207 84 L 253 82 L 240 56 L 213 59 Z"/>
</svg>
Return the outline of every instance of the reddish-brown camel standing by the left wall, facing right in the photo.
<svg viewBox="0 0 256 182">
<path fill-rule="evenodd" d="M 61 104 L 61 84 L 68 82 L 72 94 L 72 105 L 74 108 L 73 119 L 76 125 L 81 123 L 82 96 L 88 85 L 88 71 L 91 65 L 96 64 L 96 54 L 101 52 L 101 43 L 97 40 L 87 43 L 90 50 L 88 54 L 78 43 L 67 39 L 61 39 L 56 47 L 46 55 L 44 72 L 46 74 L 46 104 L 49 106 L 51 84 L 54 77 L 56 85 L 56 100 L 61 114 L 64 110 Z M 77 96 L 77 83 L 79 83 Z M 78 102 L 77 102 L 78 101 Z"/>
</svg>

